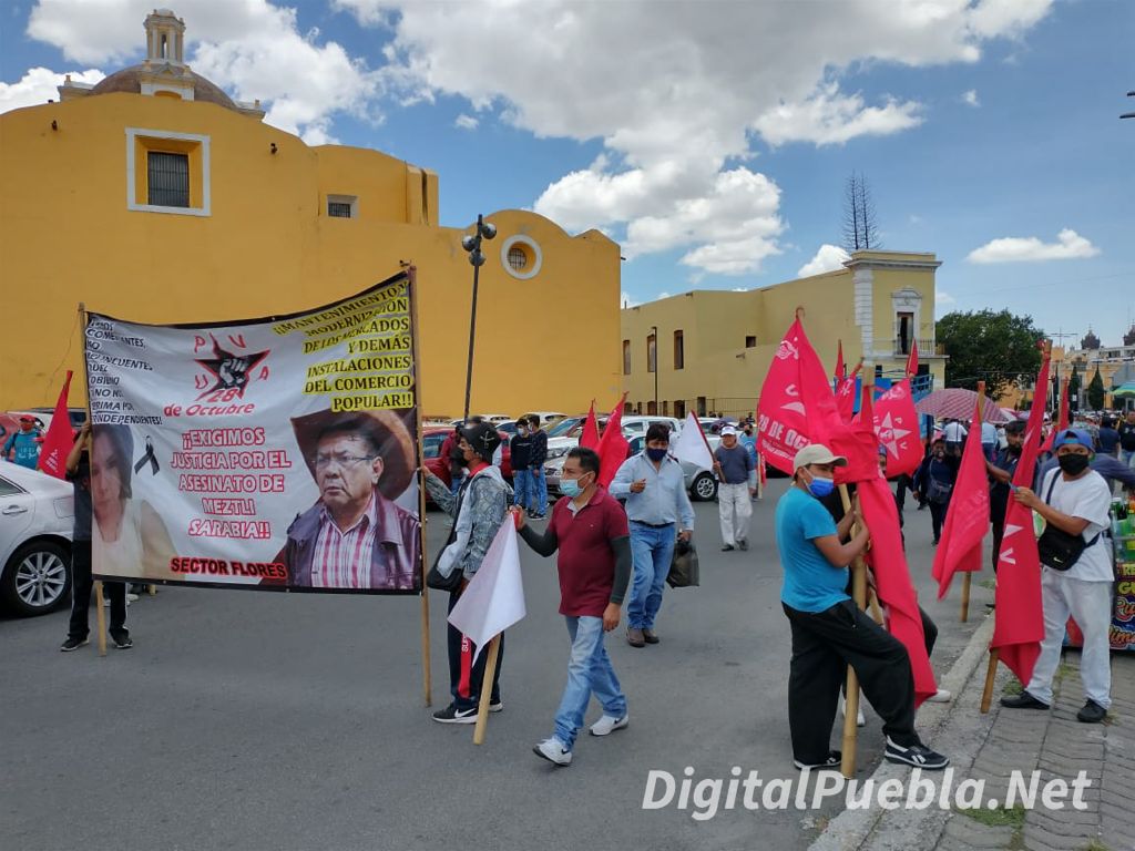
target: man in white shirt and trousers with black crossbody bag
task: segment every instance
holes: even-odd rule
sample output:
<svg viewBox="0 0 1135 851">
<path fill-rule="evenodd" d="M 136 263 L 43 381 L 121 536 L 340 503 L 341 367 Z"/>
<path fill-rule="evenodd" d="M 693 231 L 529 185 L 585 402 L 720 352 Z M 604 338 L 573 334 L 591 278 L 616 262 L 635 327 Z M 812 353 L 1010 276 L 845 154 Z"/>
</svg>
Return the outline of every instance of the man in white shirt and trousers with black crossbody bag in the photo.
<svg viewBox="0 0 1135 851">
<path fill-rule="evenodd" d="M 1048 709 L 1052 705 L 1052 677 L 1060 664 L 1068 615 L 1084 633 L 1079 677 L 1087 701 L 1077 714 L 1085 724 L 1098 724 L 1111 706 L 1110 639 L 1111 583 L 1115 580 L 1108 553 L 1108 511 L 1111 489 L 1091 469 L 1092 436 L 1083 429 L 1066 429 L 1053 441 L 1059 470 L 1046 473 L 1040 492 L 1018 488 L 1014 498 L 1040 514 L 1044 522 L 1067 536 L 1081 538 L 1084 549 L 1070 566 L 1058 571 L 1042 555 L 1041 604 L 1044 640 L 1024 691 L 1001 698 L 1010 709 Z M 1042 548 L 1043 553 L 1043 548 Z"/>
</svg>

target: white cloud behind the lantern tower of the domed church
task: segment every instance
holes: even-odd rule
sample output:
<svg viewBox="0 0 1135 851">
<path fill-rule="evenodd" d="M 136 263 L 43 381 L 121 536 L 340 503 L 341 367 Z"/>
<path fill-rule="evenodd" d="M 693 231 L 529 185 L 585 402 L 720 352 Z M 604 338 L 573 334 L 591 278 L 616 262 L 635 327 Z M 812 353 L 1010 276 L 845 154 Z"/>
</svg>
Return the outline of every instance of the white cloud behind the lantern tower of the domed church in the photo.
<svg viewBox="0 0 1135 851">
<path fill-rule="evenodd" d="M 142 22 L 153 0 L 39 0 L 27 34 L 73 61 L 121 66 L 144 53 Z M 185 19 L 186 61 L 241 100 L 266 106 L 269 124 L 304 141 L 334 141 L 337 113 L 377 121 L 379 76 L 318 31 L 301 33 L 296 11 L 268 0 L 194 0 Z"/>
</svg>

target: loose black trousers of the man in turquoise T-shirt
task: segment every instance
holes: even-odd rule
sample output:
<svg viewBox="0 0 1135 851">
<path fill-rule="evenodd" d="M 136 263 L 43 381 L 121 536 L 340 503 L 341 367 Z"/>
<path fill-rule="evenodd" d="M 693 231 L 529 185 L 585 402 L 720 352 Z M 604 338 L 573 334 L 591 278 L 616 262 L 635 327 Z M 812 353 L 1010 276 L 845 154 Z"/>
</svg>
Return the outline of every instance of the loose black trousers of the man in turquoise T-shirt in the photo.
<svg viewBox="0 0 1135 851">
<path fill-rule="evenodd" d="M 792 627 L 788 723 L 796 759 L 814 764 L 827 758 L 848 665 L 883 718 L 883 732 L 903 747 L 920 743 L 915 733 L 910 658 L 897 638 L 851 600 L 815 614 L 783 608 Z"/>
</svg>

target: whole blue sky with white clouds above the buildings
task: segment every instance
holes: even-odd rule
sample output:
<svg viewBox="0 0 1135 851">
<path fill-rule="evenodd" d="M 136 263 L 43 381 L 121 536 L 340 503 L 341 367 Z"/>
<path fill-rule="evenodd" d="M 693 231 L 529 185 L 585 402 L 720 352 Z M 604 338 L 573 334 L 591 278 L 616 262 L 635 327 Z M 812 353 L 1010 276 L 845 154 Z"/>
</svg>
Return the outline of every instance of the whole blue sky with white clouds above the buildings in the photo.
<svg viewBox="0 0 1135 851">
<path fill-rule="evenodd" d="M 0 6 L 0 111 L 142 56 L 154 0 Z M 436 169 L 444 225 L 535 209 L 617 239 L 624 297 L 933 251 L 939 313 L 1118 344 L 1135 319 L 1126 0 L 178 0 L 193 69 L 311 143 Z M 1069 338 L 1070 339 L 1070 338 Z"/>
</svg>

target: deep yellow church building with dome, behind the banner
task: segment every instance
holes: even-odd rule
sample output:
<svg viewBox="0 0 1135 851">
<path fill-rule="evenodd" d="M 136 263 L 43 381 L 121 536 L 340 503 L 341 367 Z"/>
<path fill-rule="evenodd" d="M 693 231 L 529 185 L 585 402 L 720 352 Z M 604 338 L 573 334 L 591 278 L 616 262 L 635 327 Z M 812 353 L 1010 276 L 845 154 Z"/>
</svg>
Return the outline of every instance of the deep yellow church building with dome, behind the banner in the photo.
<svg viewBox="0 0 1135 851">
<path fill-rule="evenodd" d="M 263 124 L 259 103 L 185 66 L 183 31 L 154 12 L 143 64 L 0 115 L 0 410 L 52 405 L 62 370 L 82 376 L 81 302 L 154 323 L 266 317 L 412 263 L 422 412 L 460 416 L 472 227 L 438 225 L 437 175 Z M 616 395 L 617 244 L 520 210 L 486 219 L 497 236 L 482 246 L 472 410 L 578 411 Z M 586 347 L 550 345 L 565 293 L 589 305 Z M 85 404 L 81 384 L 73 404 Z"/>
</svg>

